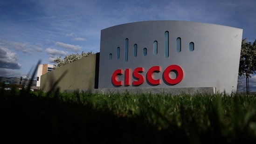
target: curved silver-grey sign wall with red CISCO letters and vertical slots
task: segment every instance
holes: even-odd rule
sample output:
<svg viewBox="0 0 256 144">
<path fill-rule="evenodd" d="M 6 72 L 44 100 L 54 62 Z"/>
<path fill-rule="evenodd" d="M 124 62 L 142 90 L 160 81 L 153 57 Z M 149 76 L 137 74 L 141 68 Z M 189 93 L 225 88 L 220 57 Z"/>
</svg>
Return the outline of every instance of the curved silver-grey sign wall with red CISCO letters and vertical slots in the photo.
<svg viewBox="0 0 256 144">
<path fill-rule="evenodd" d="M 215 87 L 235 90 L 242 29 L 142 21 L 101 31 L 98 89 Z"/>
</svg>

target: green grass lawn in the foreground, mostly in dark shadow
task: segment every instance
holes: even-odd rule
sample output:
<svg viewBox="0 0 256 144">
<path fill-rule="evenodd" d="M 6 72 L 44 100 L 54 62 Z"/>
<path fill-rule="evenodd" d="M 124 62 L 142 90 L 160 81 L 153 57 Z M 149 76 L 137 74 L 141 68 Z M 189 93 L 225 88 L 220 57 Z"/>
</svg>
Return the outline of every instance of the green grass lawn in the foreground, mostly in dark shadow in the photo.
<svg viewBox="0 0 256 144">
<path fill-rule="evenodd" d="M 256 96 L 1 89 L 0 143 L 16 141 L 256 143 Z"/>
</svg>

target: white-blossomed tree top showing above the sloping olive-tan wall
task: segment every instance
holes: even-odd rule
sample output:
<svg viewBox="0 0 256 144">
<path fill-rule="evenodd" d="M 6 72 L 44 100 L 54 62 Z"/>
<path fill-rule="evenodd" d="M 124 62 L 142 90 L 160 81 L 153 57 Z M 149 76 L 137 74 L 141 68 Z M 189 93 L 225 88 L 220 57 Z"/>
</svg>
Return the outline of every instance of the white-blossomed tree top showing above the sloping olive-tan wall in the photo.
<svg viewBox="0 0 256 144">
<path fill-rule="evenodd" d="M 80 54 L 70 54 L 70 55 L 66 55 L 63 59 L 62 57 L 57 57 L 54 59 L 53 62 L 56 62 L 56 67 L 55 69 L 59 68 L 59 67 L 62 67 L 63 65 L 65 64 L 68 64 L 70 62 L 74 62 L 76 60 L 79 60 L 83 57 L 86 57 L 86 56 L 90 56 L 90 55 L 93 55 L 93 52 L 92 51 L 89 51 L 88 53 L 85 53 L 85 52 L 82 52 L 81 55 Z"/>
</svg>

